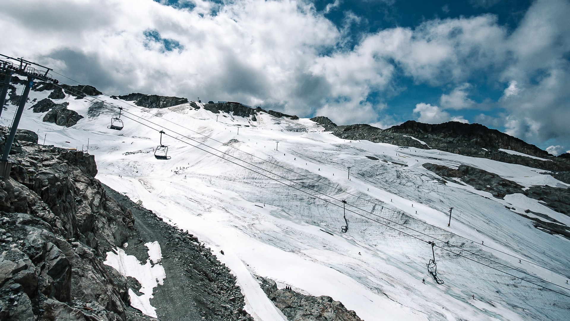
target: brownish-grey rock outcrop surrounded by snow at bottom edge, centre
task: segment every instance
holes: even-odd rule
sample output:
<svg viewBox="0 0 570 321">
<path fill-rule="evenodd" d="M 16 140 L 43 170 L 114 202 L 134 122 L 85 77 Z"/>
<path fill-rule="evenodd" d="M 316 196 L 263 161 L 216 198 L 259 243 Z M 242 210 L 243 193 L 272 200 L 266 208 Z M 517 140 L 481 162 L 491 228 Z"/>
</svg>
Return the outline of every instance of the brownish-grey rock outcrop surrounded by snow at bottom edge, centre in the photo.
<svg viewBox="0 0 570 321">
<path fill-rule="evenodd" d="M 362 321 L 355 311 L 348 310 L 343 303 L 330 296 L 310 296 L 293 290 L 277 288 L 274 280 L 257 276 L 267 297 L 275 306 L 294 321 Z"/>
</svg>

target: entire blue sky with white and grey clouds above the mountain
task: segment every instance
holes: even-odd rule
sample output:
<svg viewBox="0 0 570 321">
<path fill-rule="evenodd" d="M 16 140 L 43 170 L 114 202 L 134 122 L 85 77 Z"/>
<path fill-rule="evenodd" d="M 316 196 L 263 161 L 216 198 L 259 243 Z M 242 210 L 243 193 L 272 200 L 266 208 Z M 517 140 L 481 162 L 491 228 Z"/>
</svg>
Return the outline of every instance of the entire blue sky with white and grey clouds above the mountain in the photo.
<svg viewBox="0 0 570 321">
<path fill-rule="evenodd" d="M 482 123 L 570 150 L 570 3 L 22 0 L 3 54 L 108 94 L 241 101 L 389 127 Z"/>
</svg>

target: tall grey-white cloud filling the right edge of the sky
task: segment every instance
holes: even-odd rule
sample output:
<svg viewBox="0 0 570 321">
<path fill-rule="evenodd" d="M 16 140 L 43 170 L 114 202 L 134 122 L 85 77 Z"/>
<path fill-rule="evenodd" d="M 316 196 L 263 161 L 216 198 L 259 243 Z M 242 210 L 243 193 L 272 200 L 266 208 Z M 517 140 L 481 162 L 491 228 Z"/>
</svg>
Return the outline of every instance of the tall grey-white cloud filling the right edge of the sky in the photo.
<svg viewBox="0 0 570 321">
<path fill-rule="evenodd" d="M 510 83 L 499 103 L 508 110 L 509 133 L 527 141 L 570 141 L 568 15 L 567 1 L 536 1 L 507 39 L 515 59 L 502 74 Z"/>
</svg>

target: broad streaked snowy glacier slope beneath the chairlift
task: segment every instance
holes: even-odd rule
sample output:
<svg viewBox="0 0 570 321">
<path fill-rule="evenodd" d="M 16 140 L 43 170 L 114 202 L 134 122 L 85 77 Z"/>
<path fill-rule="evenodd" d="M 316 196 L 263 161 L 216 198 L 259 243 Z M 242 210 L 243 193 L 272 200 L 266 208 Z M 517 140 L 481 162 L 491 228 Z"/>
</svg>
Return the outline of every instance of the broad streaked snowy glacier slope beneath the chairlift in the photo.
<svg viewBox="0 0 570 321">
<path fill-rule="evenodd" d="M 32 91 L 30 100 L 48 94 Z M 523 194 L 503 200 L 455 181 L 443 184 L 421 165 L 467 164 L 525 187 L 567 186 L 541 170 L 347 141 L 308 119 L 262 113 L 254 122 L 189 104 L 145 109 L 98 98 L 124 107 L 123 130 L 107 128 L 115 112 L 88 111 L 92 102 L 74 97 L 56 102 L 70 102 L 68 109 L 85 117 L 77 125 L 44 123 L 43 114 L 26 109 L 19 127 L 39 131 L 46 145 L 87 150 L 89 143 L 96 178 L 205 242 L 237 276 L 256 320 L 284 316 L 254 275 L 304 294 L 332 296 L 367 321 L 569 318 L 570 240 L 519 214 L 531 209 L 564 224 L 570 216 Z M 9 125 L 14 109 L 2 114 L 2 125 Z M 170 160 L 153 157 L 160 130 Z M 340 231 L 342 200 L 347 233 Z M 427 273 L 428 241 L 435 243 L 444 284 Z M 153 262 L 146 264 L 160 266 L 152 265 L 160 247 L 149 244 L 149 255 Z"/>
</svg>

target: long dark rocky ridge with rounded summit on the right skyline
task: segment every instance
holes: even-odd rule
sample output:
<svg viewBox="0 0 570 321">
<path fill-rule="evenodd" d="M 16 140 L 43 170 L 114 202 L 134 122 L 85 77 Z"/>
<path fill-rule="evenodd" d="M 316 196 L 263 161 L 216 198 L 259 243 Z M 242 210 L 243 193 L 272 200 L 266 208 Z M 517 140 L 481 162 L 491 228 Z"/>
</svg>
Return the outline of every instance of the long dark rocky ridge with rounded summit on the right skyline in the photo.
<svg viewBox="0 0 570 321">
<path fill-rule="evenodd" d="M 522 141 L 522 139 L 489 129 L 480 124 L 446 122 L 432 125 L 407 121 L 401 125 L 382 130 L 367 124 L 337 126 L 330 119 L 322 116 L 311 118 L 311 121 L 319 123 L 325 130 L 332 131 L 333 135 L 343 139 L 365 139 L 374 143 L 389 143 L 418 149 L 437 149 L 454 154 L 520 164 L 553 171 L 552 176 L 570 183 L 570 174 L 568 174 L 570 172 L 570 161 L 568 158 L 554 157 L 535 145 Z M 545 160 L 508 154 L 499 149 L 518 151 Z"/>
</svg>

